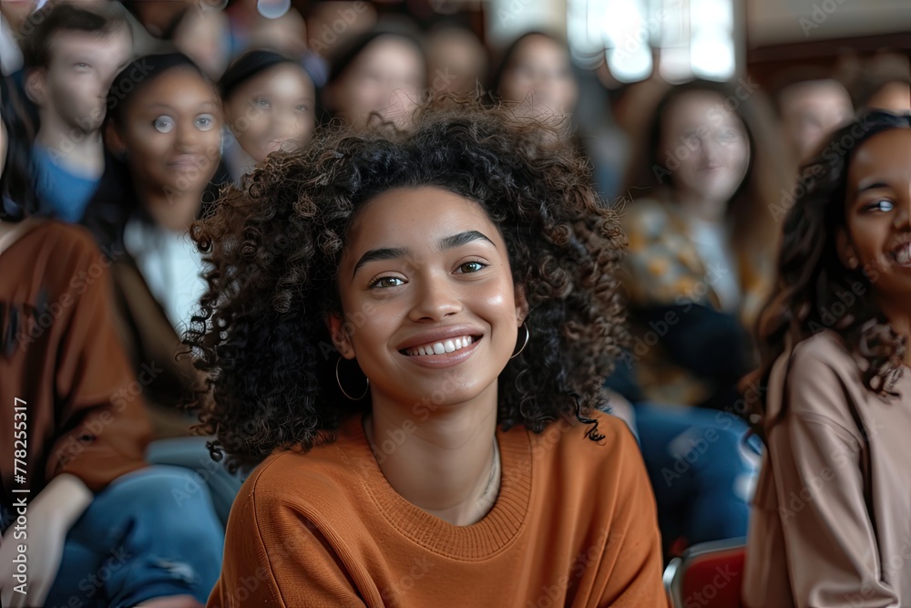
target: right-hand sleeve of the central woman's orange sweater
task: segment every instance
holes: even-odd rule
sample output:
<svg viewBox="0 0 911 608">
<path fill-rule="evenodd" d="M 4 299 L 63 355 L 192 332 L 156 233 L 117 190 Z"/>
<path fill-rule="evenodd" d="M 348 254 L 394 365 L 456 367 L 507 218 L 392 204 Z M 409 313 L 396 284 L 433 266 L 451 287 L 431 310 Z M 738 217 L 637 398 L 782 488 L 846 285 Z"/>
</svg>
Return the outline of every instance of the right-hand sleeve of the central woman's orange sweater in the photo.
<svg viewBox="0 0 911 608">
<path fill-rule="evenodd" d="M 661 542 L 655 496 L 639 446 L 622 429 L 616 460 L 613 519 L 596 580 L 603 590 L 597 605 L 614 608 L 665 608 L 661 584 Z M 592 604 L 594 605 L 594 604 Z"/>
</svg>

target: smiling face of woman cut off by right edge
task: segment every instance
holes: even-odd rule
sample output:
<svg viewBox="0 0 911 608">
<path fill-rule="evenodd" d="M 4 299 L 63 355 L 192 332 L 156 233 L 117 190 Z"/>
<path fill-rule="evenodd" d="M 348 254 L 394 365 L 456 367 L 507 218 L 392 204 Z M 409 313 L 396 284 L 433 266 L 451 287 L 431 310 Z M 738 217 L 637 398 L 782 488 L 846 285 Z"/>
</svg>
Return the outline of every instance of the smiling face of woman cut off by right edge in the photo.
<svg viewBox="0 0 911 608">
<path fill-rule="evenodd" d="M 867 139 L 848 170 L 844 261 L 856 258 L 875 293 L 911 310 L 911 129 Z M 848 265 L 853 265 L 848 263 Z"/>
</svg>

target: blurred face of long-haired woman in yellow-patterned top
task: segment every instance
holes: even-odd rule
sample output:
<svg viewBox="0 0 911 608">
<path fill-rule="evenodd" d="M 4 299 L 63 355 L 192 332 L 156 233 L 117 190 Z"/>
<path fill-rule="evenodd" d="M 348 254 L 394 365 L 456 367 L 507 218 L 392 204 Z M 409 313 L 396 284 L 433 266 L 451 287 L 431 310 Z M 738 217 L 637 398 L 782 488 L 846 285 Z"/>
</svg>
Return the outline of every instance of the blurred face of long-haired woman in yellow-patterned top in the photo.
<svg viewBox="0 0 911 608">
<path fill-rule="evenodd" d="M 741 120 L 712 92 L 683 94 L 663 117 L 659 157 L 682 197 L 721 218 L 750 164 Z M 674 169 L 676 167 L 676 169 Z"/>
</svg>

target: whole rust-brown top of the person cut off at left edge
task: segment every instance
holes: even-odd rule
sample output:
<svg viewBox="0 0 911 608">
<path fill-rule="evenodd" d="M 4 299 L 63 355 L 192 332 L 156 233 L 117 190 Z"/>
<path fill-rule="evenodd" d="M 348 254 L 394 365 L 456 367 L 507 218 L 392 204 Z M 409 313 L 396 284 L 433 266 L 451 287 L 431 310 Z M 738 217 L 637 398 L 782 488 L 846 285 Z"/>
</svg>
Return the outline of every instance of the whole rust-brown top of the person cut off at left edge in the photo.
<svg viewBox="0 0 911 608">
<path fill-rule="evenodd" d="M 0 252 L 6 504 L 12 489 L 34 497 L 63 472 L 103 489 L 145 466 L 150 436 L 140 387 L 111 324 L 109 259 L 81 228 L 29 225 Z M 14 448 L 25 450 L 23 462 L 15 462 Z"/>
</svg>

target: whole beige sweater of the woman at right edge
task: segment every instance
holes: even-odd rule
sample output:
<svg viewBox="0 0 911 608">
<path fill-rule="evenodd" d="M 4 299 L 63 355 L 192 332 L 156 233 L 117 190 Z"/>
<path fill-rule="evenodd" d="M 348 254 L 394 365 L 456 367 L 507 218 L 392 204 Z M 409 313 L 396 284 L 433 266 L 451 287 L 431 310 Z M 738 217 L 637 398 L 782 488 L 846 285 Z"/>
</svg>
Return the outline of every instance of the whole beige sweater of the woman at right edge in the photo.
<svg viewBox="0 0 911 608">
<path fill-rule="evenodd" d="M 770 378 L 770 416 L 786 359 Z M 911 370 L 899 397 L 876 397 L 824 331 L 797 345 L 790 374 L 789 411 L 769 433 L 754 498 L 744 602 L 911 606 Z"/>
</svg>

